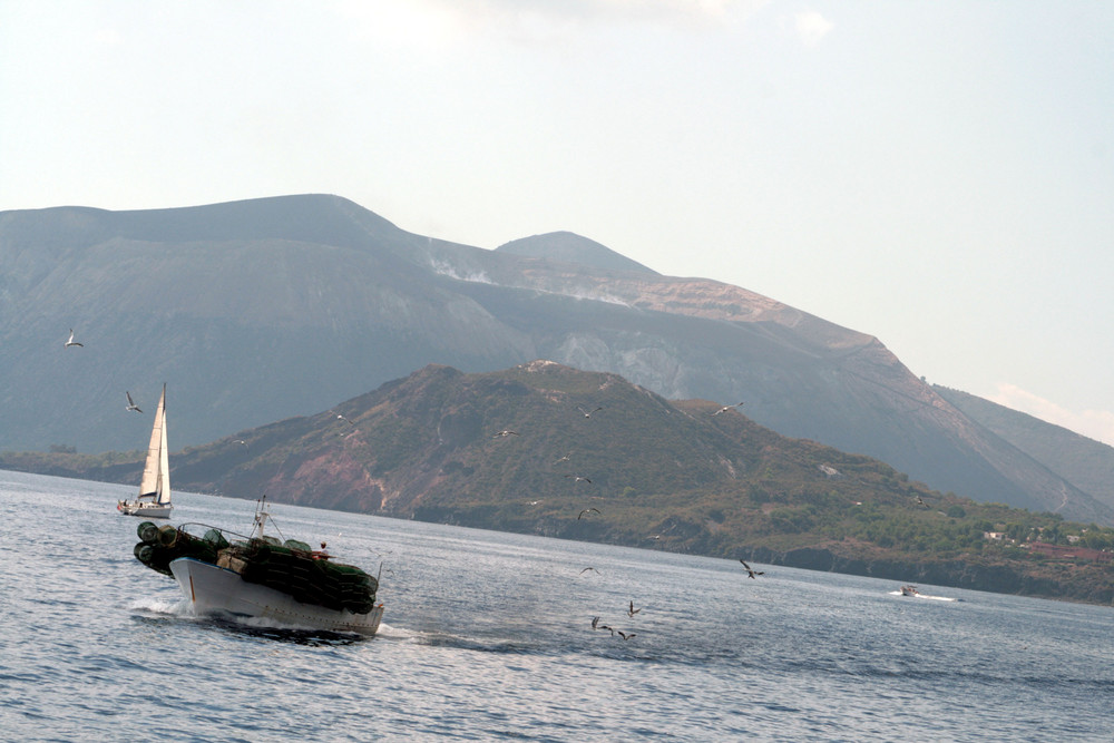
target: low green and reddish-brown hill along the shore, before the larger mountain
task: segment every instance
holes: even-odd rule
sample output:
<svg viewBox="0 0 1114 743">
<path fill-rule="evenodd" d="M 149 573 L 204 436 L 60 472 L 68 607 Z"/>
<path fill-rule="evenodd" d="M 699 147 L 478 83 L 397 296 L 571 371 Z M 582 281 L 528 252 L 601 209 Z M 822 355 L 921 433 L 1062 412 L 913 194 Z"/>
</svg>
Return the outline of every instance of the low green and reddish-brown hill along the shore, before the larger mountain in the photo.
<svg viewBox="0 0 1114 743">
<path fill-rule="evenodd" d="M 40 458 L 32 462 L 32 458 Z M 1114 529 L 932 491 L 731 407 L 534 361 L 430 365 L 332 410 L 172 457 L 177 490 L 1108 603 Z M 0 456 L 138 481 L 141 452 Z M 988 539 L 988 531 L 1008 536 Z M 1073 550 L 1072 564 L 1036 542 Z M 1079 557 L 1084 559 L 1079 559 Z M 1077 564 L 1076 564 L 1077 563 Z"/>
</svg>

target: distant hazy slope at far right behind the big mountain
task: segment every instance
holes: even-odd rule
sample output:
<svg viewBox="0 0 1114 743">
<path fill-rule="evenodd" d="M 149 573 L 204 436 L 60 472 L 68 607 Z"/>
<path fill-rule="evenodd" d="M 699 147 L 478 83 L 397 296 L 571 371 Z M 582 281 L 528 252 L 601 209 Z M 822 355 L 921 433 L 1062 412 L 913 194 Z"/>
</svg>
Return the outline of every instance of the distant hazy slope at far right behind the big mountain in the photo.
<svg viewBox="0 0 1114 743">
<path fill-rule="evenodd" d="M 1114 447 L 967 392 L 940 385 L 932 389 L 995 436 L 1114 507 Z"/>
</svg>

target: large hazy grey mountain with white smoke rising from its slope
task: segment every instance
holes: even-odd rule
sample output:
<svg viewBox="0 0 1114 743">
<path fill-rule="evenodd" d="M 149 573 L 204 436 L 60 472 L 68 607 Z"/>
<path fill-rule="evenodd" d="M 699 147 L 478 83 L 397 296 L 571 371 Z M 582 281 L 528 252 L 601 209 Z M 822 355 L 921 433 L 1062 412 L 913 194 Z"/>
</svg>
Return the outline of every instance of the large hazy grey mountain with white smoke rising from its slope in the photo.
<svg viewBox="0 0 1114 743">
<path fill-rule="evenodd" d="M 941 491 L 1112 522 L 973 422 L 877 339 L 568 233 L 497 251 L 408 233 L 328 195 L 0 213 L 0 449 L 141 446 L 168 384 L 176 446 L 305 416 L 430 363 L 532 359 L 668 399 L 745 401 L 779 433 Z M 84 348 L 63 349 L 74 329 Z"/>
</svg>

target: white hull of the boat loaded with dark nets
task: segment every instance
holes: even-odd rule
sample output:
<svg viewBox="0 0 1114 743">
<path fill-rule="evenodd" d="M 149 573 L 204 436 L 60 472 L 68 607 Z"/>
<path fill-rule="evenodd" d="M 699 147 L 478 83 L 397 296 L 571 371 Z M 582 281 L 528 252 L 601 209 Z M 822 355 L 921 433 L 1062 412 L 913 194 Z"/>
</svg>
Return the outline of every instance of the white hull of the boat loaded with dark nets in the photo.
<svg viewBox="0 0 1114 743">
<path fill-rule="evenodd" d="M 297 627 L 364 635 L 374 635 L 383 618 L 382 604 L 368 614 L 303 604 L 280 590 L 247 583 L 238 573 L 192 557 L 172 560 L 170 573 L 198 616 L 232 614 L 262 617 Z"/>
</svg>

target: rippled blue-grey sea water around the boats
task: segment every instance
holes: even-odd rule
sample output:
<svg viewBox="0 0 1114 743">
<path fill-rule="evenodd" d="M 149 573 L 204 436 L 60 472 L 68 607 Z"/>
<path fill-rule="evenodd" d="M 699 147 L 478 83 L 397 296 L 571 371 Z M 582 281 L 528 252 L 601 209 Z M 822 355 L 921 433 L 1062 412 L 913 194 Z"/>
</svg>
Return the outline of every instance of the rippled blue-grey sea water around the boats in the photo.
<svg viewBox="0 0 1114 743">
<path fill-rule="evenodd" d="M 0 471 L 3 740 L 1114 740 L 1110 607 L 274 506 L 382 565 L 359 639 L 192 617 L 133 557 L 131 495 Z"/>
</svg>

